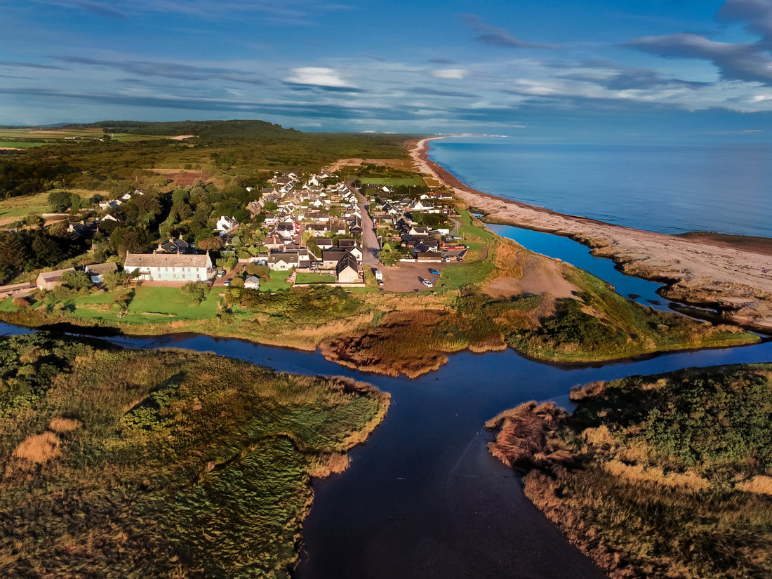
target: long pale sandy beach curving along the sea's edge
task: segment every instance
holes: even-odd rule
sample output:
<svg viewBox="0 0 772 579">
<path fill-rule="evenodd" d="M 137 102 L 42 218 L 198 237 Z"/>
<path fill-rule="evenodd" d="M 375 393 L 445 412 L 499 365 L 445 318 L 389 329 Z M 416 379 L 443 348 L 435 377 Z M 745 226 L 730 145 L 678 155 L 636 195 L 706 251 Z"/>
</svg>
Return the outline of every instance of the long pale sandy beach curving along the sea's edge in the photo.
<svg viewBox="0 0 772 579">
<path fill-rule="evenodd" d="M 764 249 L 630 229 L 488 195 L 430 161 L 431 140 L 415 142 L 415 164 L 467 205 L 486 213 L 486 221 L 570 237 L 595 256 L 613 259 L 625 273 L 667 284 L 660 290 L 662 296 L 716 308 L 727 321 L 772 332 L 772 256 Z"/>
</svg>

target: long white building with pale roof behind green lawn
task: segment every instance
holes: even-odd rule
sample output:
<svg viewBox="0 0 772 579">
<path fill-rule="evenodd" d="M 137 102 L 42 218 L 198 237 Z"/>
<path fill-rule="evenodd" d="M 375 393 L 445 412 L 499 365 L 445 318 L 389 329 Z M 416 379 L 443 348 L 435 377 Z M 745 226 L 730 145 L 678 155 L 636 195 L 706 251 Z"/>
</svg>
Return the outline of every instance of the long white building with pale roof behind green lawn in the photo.
<svg viewBox="0 0 772 579">
<path fill-rule="evenodd" d="M 132 273 L 135 269 L 139 279 L 152 282 L 202 282 L 215 275 L 208 253 L 127 253 L 124 271 Z"/>
</svg>

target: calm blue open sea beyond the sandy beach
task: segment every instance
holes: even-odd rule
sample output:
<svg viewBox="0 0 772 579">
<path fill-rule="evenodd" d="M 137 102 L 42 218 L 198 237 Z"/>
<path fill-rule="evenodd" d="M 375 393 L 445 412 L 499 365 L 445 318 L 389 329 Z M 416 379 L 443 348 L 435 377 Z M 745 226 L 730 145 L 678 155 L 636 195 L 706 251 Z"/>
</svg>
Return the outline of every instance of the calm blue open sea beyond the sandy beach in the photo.
<svg viewBox="0 0 772 579">
<path fill-rule="evenodd" d="M 772 237 L 772 144 L 430 145 L 432 161 L 502 198 L 648 231 Z"/>
</svg>

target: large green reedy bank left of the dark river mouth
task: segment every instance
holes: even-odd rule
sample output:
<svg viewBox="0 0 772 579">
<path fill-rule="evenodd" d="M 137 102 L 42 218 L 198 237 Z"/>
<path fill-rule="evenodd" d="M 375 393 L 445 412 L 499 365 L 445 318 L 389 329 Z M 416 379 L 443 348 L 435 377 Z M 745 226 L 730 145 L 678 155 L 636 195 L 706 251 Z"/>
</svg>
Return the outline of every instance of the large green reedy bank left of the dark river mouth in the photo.
<svg viewBox="0 0 772 579">
<path fill-rule="evenodd" d="M 4 577 L 288 577 L 310 476 L 388 394 L 212 354 L 2 338 Z"/>
</svg>

